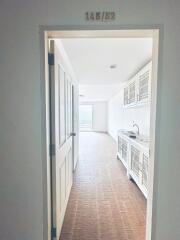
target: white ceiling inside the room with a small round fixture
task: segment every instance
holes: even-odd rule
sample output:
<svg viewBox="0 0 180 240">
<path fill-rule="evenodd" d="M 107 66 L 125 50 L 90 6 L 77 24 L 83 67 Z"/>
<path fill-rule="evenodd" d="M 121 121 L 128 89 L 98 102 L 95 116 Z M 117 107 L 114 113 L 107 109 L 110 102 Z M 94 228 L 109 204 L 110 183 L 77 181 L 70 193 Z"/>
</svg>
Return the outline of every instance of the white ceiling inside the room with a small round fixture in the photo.
<svg viewBox="0 0 180 240">
<path fill-rule="evenodd" d="M 80 94 L 85 95 L 83 101 L 109 100 L 117 86 L 152 56 L 152 38 L 69 38 L 61 42 L 80 85 L 83 84 L 80 88 Z M 111 69 L 112 64 L 117 67 Z"/>
</svg>

